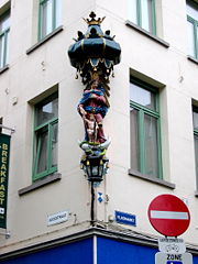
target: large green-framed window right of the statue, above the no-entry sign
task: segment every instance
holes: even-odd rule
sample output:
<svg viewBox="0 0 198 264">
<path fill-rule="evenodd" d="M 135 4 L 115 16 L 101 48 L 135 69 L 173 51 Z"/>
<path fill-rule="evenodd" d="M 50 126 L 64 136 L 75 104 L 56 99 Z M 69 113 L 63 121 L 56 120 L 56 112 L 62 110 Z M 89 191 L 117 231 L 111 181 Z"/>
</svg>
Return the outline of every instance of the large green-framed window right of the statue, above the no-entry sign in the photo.
<svg viewBox="0 0 198 264">
<path fill-rule="evenodd" d="M 162 178 L 157 96 L 153 87 L 131 79 L 131 168 L 143 175 Z"/>
</svg>

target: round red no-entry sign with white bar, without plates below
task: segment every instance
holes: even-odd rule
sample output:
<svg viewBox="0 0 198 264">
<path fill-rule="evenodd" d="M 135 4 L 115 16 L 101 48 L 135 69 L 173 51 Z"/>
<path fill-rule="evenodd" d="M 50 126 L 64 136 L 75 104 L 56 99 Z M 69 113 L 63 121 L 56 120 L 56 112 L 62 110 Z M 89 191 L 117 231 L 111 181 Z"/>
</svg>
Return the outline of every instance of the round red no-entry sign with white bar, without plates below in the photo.
<svg viewBox="0 0 198 264">
<path fill-rule="evenodd" d="M 190 213 L 183 200 L 173 195 L 160 195 L 152 200 L 147 210 L 153 228 L 167 237 L 184 233 L 190 222 Z"/>
</svg>

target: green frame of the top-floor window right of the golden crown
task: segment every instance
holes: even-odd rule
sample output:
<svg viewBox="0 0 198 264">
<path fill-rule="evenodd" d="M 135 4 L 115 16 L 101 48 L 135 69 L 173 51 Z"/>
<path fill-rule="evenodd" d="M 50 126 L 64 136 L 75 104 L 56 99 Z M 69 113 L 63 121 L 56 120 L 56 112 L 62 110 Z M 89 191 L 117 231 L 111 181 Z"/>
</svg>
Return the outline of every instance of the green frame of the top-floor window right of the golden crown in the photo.
<svg viewBox="0 0 198 264">
<path fill-rule="evenodd" d="M 130 0 L 129 0 L 130 1 Z M 156 35 L 156 9 L 155 9 L 155 0 L 152 0 L 152 15 L 148 19 L 152 20 L 152 30 L 146 30 L 142 26 L 142 0 L 135 0 L 136 1 L 136 22 L 132 21 L 134 24 L 140 26 L 141 29 L 145 30 L 146 32 L 150 32 L 153 35 Z"/>
</svg>

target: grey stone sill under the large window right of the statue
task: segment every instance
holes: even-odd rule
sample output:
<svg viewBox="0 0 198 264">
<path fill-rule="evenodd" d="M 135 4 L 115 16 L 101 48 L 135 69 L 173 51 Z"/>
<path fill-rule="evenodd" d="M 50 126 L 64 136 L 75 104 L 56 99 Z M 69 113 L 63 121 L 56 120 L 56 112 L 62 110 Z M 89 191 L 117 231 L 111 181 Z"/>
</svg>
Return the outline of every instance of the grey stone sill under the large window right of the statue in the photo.
<svg viewBox="0 0 198 264">
<path fill-rule="evenodd" d="M 167 187 L 169 189 L 175 189 L 175 184 L 172 184 L 172 183 L 168 183 L 164 179 L 160 179 L 160 178 L 154 178 L 154 177 L 150 177 L 147 175 L 143 175 L 134 169 L 129 169 L 129 175 L 131 176 L 134 176 L 134 177 L 138 177 L 138 178 L 141 178 L 143 180 L 147 180 L 150 183 L 154 183 L 154 184 L 157 184 L 157 185 L 161 185 L 161 186 L 164 186 L 164 187 Z"/>
</svg>

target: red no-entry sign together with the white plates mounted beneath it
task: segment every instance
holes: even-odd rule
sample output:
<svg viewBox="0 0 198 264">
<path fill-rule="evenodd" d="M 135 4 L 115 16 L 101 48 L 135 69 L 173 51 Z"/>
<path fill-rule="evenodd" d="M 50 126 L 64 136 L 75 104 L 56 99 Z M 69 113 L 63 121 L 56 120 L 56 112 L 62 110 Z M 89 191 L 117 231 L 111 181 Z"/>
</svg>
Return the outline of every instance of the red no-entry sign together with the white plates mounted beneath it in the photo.
<svg viewBox="0 0 198 264">
<path fill-rule="evenodd" d="M 153 228 L 166 237 L 158 240 L 161 252 L 155 254 L 155 264 L 193 264 L 193 255 L 186 253 L 184 240 L 177 238 L 190 222 L 184 201 L 173 195 L 157 196 L 150 204 L 147 215 Z"/>
</svg>

